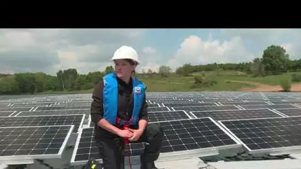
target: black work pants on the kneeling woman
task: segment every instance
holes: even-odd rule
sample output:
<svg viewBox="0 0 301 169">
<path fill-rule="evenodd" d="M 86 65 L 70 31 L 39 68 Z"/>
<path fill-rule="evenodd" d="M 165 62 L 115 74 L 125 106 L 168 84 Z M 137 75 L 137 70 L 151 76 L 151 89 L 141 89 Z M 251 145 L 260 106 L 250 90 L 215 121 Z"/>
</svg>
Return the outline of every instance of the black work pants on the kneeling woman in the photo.
<svg viewBox="0 0 301 169">
<path fill-rule="evenodd" d="M 103 162 L 103 169 L 124 169 L 124 144 L 121 137 L 95 138 Z M 154 162 L 159 157 L 159 149 L 163 140 L 163 130 L 157 124 L 147 124 L 137 141 L 147 142 L 141 155 L 145 162 Z"/>
</svg>

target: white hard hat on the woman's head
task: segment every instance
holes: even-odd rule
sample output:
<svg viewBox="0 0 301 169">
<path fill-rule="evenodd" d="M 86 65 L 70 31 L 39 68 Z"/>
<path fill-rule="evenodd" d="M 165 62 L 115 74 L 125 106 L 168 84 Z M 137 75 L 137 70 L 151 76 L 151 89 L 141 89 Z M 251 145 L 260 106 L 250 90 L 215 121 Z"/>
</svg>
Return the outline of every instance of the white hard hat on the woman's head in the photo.
<svg viewBox="0 0 301 169">
<path fill-rule="evenodd" d="M 119 47 L 115 51 L 111 60 L 116 60 L 116 59 L 132 59 L 133 61 L 139 64 L 138 53 L 133 47 L 130 46 Z"/>
</svg>

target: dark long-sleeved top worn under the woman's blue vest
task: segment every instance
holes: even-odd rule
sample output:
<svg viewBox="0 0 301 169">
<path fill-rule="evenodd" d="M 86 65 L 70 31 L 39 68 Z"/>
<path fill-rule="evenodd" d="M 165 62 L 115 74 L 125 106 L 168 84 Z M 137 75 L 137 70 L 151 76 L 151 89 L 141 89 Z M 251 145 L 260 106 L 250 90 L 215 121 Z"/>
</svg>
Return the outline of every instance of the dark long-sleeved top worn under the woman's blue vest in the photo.
<svg viewBox="0 0 301 169">
<path fill-rule="evenodd" d="M 129 84 L 126 84 L 124 81 L 117 78 L 118 82 L 118 108 L 117 108 L 117 117 L 124 120 L 130 120 L 133 113 L 134 98 L 132 97 L 133 84 L 130 80 Z M 103 118 L 103 102 L 102 102 L 102 90 L 103 90 L 103 81 L 101 80 L 94 88 L 93 91 L 93 102 L 91 104 L 91 121 L 94 124 L 97 124 Z M 139 118 L 148 120 L 147 112 L 148 104 L 146 98 L 144 98 L 144 103 L 141 108 L 141 113 Z M 104 135 L 112 135 L 113 133 L 95 125 L 95 135 L 96 137 L 103 137 Z M 113 134 L 115 135 L 115 134 Z M 115 135 L 116 136 L 116 135 Z"/>
</svg>

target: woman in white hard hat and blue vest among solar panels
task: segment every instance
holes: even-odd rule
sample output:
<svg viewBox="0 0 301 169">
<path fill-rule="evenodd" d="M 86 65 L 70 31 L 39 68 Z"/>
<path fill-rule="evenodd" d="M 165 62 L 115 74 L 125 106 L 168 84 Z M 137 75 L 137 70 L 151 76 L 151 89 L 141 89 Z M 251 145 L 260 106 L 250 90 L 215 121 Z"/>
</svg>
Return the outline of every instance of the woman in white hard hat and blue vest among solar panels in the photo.
<svg viewBox="0 0 301 169">
<path fill-rule="evenodd" d="M 163 131 L 159 125 L 148 124 L 146 86 L 132 77 L 139 64 L 132 47 L 118 48 L 112 59 L 115 72 L 109 73 L 95 86 L 91 119 L 99 146 L 103 169 L 124 169 L 124 139 L 148 142 L 140 156 L 141 169 L 157 169 Z M 129 123 L 129 129 L 124 129 Z"/>
</svg>

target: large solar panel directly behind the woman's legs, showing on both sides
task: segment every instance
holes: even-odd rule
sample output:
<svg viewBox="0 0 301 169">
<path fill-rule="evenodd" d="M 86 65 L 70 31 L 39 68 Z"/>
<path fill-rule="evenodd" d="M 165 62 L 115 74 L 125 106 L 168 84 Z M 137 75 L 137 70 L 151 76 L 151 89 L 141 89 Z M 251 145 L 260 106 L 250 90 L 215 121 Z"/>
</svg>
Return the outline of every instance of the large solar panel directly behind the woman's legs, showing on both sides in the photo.
<svg viewBox="0 0 301 169">
<path fill-rule="evenodd" d="M 227 149 L 241 145 L 211 118 L 174 120 L 155 122 L 164 131 L 160 157 L 170 153 L 201 153 L 212 149 Z M 83 128 L 75 144 L 71 164 L 84 164 L 91 157 L 100 160 L 98 149 L 93 139 L 94 127 Z M 140 156 L 145 143 L 130 143 L 125 150 L 125 156 Z M 182 154 L 181 154 L 182 156 Z M 183 155 L 183 158 L 184 155 Z"/>
</svg>

